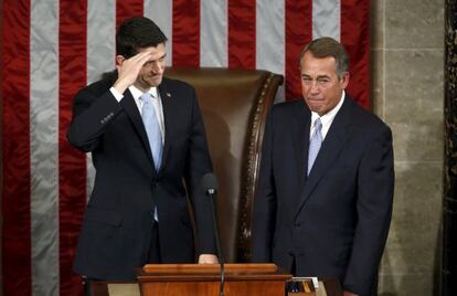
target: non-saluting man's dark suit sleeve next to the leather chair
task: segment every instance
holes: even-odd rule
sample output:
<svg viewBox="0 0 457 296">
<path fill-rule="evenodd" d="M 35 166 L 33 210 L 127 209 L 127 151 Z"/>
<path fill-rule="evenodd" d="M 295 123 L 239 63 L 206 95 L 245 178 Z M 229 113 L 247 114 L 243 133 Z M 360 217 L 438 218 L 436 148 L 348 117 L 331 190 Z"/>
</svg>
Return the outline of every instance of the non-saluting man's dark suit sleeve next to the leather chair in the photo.
<svg viewBox="0 0 457 296">
<path fill-rule="evenodd" d="M 273 110 L 268 115 L 262 148 L 261 172 L 253 204 L 252 261 L 272 262 L 272 243 L 276 221 L 276 192 L 273 178 Z"/>
</svg>

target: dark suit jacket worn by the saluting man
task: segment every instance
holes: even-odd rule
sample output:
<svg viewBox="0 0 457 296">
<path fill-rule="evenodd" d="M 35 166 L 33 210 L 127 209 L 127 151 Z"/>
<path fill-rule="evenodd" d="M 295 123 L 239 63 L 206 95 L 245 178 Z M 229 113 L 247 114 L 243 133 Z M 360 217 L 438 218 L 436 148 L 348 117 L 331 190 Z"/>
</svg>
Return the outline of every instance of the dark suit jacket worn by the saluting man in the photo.
<svg viewBox="0 0 457 296">
<path fill-rule="evenodd" d="M 153 209 L 159 218 L 164 263 L 194 262 L 194 239 L 187 192 L 194 209 L 199 252 L 214 252 L 211 203 L 200 190 L 212 171 L 198 98 L 190 85 L 163 77 L 164 145 L 156 171 L 146 129 L 130 92 L 119 102 L 109 88 L 117 74 L 82 91 L 74 101 L 70 142 L 92 151 L 96 169 L 74 269 L 92 278 L 135 278 L 147 263 Z"/>
</svg>

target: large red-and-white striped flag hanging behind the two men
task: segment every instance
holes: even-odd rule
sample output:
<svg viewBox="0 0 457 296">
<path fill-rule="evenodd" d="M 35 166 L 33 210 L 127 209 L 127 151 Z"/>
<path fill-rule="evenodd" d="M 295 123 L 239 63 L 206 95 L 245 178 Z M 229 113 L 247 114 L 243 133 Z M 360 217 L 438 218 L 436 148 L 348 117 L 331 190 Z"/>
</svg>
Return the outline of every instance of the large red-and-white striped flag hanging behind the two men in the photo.
<svg viewBox="0 0 457 296">
<path fill-rule="evenodd" d="M 4 295 L 81 295 L 74 250 L 94 171 L 66 141 L 76 91 L 114 68 L 128 17 L 169 38 L 167 65 L 268 70 L 300 97 L 298 56 L 340 40 L 349 93 L 369 107 L 369 0 L 3 0 L 2 275 Z"/>
</svg>

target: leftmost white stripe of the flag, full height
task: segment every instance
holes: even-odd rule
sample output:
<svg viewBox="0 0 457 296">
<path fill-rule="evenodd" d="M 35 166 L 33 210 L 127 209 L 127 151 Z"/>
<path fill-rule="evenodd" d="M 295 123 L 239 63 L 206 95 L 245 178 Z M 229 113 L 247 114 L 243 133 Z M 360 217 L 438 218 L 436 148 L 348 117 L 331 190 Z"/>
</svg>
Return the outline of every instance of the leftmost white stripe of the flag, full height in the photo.
<svg viewBox="0 0 457 296">
<path fill-rule="evenodd" d="M 57 24 L 59 7 L 50 0 L 31 1 L 29 99 L 32 235 L 30 240 L 32 285 L 35 295 L 57 293 L 59 286 L 49 283 L 56 283 L 59 279 L 59 249 L 63 247 L 59 245 L 57 219 L 60 188 L 60 154 L 56 140 L 60 133 Z"/>
</svg>

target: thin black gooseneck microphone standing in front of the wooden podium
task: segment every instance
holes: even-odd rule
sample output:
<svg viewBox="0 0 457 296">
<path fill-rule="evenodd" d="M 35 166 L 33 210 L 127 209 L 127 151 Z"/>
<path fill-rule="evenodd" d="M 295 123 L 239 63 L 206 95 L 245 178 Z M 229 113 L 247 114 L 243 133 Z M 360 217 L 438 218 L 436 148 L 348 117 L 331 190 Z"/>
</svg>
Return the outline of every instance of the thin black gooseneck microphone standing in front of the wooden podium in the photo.
<svg viewBox="0 0 457 296">
<path fill-rule="evenodd" d="M 220 296 L 224 296 L 224 284 L 225 284 L 225 271 L 224 271 L 224 257 L 221 252 L 221 242 L 219 239 L 219 228 L 217 228 L 217 218 L 214 207 L 214 198 L 217 192 L 217 179 L 212 172 L 208 172 L 202 178 L 202 188 L 203 192 L 210 197 L 211 211 L 213 214 L 213 226 L 214 226 L 214 236 L 216 244 L 216 252 L 219 262 L 221 264 L 221 285 L 220 285 Z"/>
</svg>

